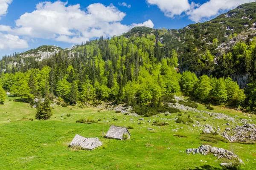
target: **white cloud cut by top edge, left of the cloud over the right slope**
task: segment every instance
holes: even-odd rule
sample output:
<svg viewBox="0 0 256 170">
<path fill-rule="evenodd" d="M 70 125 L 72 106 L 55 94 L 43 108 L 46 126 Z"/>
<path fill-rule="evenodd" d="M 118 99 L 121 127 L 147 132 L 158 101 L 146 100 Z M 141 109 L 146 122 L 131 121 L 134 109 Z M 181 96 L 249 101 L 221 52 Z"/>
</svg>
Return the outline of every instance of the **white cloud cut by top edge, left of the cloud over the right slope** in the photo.
<svg viewBox="0 0 256 170">
<path fill-rule="evenodd" d="M 188 0 L 146 0 L 150 5 L 157 5 L 167 17 L 174 17 L 189 10 Z"/>
</svg>

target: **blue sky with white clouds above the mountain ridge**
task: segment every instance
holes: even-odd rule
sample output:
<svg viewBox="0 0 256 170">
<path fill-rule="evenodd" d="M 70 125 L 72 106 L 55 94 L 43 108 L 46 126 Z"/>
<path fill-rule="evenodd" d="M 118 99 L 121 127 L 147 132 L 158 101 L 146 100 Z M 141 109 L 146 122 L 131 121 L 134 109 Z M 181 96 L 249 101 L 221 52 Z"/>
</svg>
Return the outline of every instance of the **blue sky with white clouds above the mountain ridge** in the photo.
<svg viewBox="0 0 256 170">
<path fill-rule="evenodd" d="M 0 57 L 46 44 L 69 48 L 134 26 L 179 29 L 254 1 L 1 0 Z"/>
</svg>

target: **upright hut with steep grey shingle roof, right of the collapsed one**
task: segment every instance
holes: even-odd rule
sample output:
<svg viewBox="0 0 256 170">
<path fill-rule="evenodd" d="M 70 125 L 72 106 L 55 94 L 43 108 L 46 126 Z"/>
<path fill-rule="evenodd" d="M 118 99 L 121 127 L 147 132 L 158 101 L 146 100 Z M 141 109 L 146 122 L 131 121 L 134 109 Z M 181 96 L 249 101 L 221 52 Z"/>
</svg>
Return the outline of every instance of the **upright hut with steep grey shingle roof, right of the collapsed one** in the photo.
<svg viewBox="0 0 256 170">
<path fill-rule="evenodd" d="M 119 126 L 111 125 L 105 138 L 122 140 L 123 134 L 128 134 L 128 139 L 130 139 L 131 133 L 129 132 L 129 130 L 126 127 L 119 127 Z"/>
</svg>

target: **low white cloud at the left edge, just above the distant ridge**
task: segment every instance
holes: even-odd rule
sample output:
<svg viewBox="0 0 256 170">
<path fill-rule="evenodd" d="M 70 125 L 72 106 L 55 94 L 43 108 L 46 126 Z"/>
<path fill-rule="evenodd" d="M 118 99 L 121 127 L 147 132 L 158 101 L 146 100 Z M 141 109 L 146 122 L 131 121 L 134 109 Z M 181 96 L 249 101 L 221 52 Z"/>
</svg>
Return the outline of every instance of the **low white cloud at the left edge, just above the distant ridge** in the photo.
<svg viewBox="0 0 256 170">
<path fill-rule="evenodd" d="M 25 40 L 21 40 L 17 35 L 0 33 L 0 49 L 28 48 Z"/>
</svg>

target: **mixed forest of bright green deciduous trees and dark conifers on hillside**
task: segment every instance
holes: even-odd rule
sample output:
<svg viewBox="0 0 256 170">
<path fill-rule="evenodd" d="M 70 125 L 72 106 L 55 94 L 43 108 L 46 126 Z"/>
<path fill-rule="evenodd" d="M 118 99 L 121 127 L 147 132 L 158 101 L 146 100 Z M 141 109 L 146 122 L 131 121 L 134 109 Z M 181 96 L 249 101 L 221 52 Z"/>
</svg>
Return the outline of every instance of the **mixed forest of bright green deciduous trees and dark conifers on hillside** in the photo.
<svg viewBox="0 0 256 170">
<path fill-rule="evenodd" d="M 16 54 L 17 58 L 12 57 L 17 60 L 16 65 L 9 65 L 1 72 L 0 84 L 5 91 L 31 105 L 35 97 L 53 100 L 57 96 L 59 102 L 70 105 L 113 101 L 152 106 L 168 102 L 166 96 L 170 94 L 183 94 L 213 105 L 254 108 L 254 84 L 249 85 L 252 91 L 246 95 L 230 77 L 197 77 L 190 71 L 180 74 L 177 52 L 172 49 L 165 55 L 164 48 L 154 34 L 146 34 L 110 40 L 101 37 L 79 45 L 71 56 L 60 51 L 42 61 L 30 58 L 23 63 Z M 246 62 L 246 57 L 253 59 L 255 41 L 249 45 L 239 42 L 233 51 L 220 59 L 226 64 L 247 67 L 246 63 L 252 64 Z M 207 50 L 201 60 L 213 62 L 213 57 Z M 250 100 L 248 105 L 246 100 Z"/>
</svg>

